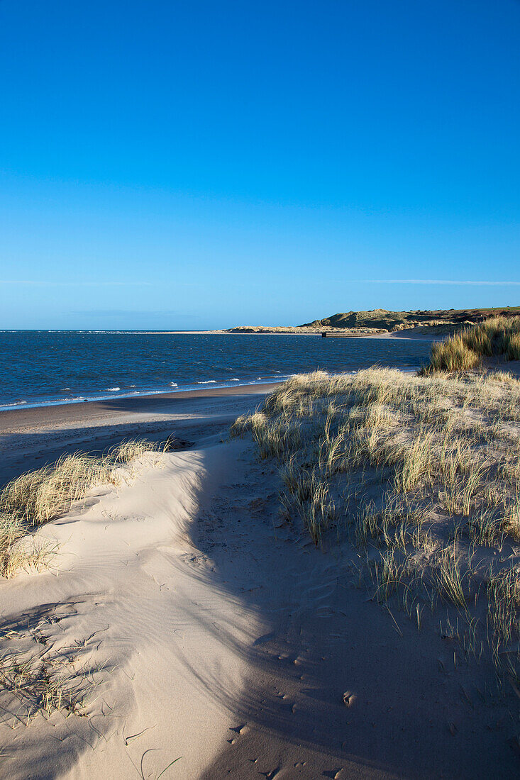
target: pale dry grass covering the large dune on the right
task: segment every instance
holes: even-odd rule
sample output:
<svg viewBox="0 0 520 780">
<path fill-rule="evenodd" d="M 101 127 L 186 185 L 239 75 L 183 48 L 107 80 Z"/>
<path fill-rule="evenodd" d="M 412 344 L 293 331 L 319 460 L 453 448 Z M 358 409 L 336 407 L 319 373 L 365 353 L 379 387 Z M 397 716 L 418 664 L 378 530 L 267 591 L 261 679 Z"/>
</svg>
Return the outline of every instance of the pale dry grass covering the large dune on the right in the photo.
<svg viewBox="0 0 520 780">
<path fill-rule="evenodd" d="M 515 330 L 496 327 L 475 328 L 465 349 L 511 353 Z M 280 385 L 231 434 L 247 431 L 278 463 L 282 516 L 317 546 L 358 548 L 376 601 L 418 628 L 454 610 L 466 654 L 487 644 L 497 675 L 520 672 L 520 381 L 315 372 Z M 442 630 L 454 635 L 451 620 Z"/>
</svg>

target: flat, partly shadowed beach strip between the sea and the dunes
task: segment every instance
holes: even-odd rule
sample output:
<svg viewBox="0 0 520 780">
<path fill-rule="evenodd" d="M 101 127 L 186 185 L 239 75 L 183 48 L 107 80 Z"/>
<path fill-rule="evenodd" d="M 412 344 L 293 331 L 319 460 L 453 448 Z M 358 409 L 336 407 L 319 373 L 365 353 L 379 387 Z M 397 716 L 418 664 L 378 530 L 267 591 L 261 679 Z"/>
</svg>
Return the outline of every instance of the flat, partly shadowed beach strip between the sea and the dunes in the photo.
<svg viewBox="0 0 520 780">
<path fill-rule="evenodd" d="M 141 395 L 0 412 L 0 485 L 77 451 L 102 454 L 126 438 L 192 441 L 222 432 L 280 383 Z"/>
</svg>

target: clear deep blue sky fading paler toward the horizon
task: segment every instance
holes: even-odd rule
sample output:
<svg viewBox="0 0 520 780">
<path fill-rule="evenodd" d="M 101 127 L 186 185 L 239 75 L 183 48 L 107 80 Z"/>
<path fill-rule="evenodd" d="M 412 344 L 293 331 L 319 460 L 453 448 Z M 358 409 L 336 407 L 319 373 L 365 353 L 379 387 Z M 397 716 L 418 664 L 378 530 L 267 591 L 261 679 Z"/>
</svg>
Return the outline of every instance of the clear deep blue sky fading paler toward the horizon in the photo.
<svg viewBox="0 0 520 780">
<path fill-rule="evenodd" d="M 519 39 L 518 0 L 2 0 L 0 328 L 520 303 Z"/>
</svg>

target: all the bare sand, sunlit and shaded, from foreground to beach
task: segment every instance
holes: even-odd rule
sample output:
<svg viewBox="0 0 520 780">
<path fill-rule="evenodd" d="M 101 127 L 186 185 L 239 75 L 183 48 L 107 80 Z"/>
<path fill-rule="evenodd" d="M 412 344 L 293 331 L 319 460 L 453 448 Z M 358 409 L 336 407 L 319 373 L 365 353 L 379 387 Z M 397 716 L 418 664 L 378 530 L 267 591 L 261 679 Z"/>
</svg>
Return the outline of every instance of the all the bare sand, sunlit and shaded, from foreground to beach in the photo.
<svg viewBox="0 0 520 780">
<path fill-rule="evenodd" d="M 92 683 L 86 717 L 28 727 L 2 694 L 2 777 L 158 778 L 176 758 L 163 778 L 518 776 L 510 716 L 468 703 L 451 642 L 369 601 L 353 549 L 281 523 L 276 465 L 222 441 L 262 396 L 210 395 L 0 417 L 10 469 L 121 434 L 193 442 L 42 527 L 53 568 L 2 583 L 0 652 Z"/>
</svg>

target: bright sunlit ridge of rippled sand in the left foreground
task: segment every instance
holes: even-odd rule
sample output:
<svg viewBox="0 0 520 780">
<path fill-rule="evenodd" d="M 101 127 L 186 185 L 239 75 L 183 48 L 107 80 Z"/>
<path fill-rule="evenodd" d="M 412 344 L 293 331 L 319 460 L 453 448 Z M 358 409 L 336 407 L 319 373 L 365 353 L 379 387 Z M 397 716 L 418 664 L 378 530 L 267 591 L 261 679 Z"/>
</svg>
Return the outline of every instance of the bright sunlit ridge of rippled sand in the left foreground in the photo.
<svg viewBox="0 0 520 780">
<path fill-rule="evenodd" d="M 29 728 L 18 721 L 23 707 L 2 697 L 4 724 L 18 723 L 4 729 L 12 778 L 35 767 L 38 777 L 123 778 L 143 756 L 147 777 L 182 757 L 176 776 L 196 778 L 229 736 L 246 667 L 240 647 L 262 629 L 212 577 L 190 526 L 230 464 L 215 448 L 163 458 L 41 530 L 59 544 L 55 573 L 3 587 L 4 618 L 23 635 L 15 643 L 37 647 L 38 633 L 45 654 L 74 658 L 70 674 L 94 681 L 86 717 L 37 717 Z"/>
</svg>

